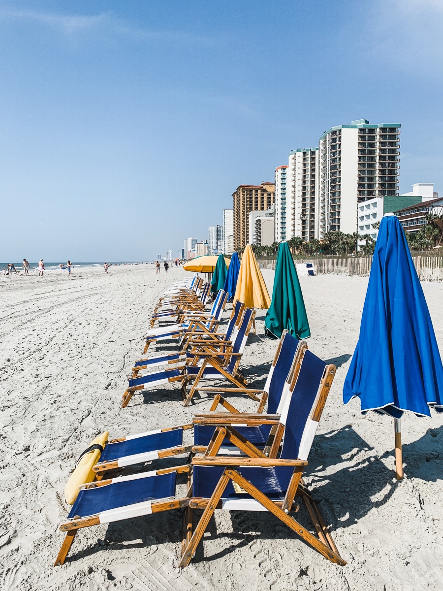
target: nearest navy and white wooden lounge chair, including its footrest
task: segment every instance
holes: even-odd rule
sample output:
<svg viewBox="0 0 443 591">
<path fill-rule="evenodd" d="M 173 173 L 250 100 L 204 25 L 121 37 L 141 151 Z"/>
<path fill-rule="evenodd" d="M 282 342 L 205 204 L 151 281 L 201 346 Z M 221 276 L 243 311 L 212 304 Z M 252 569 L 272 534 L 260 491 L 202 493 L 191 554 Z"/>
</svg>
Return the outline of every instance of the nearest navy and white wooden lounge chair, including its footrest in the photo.
<svg viewBox="0 0 443 591">
<path fill-rule="evenodd" d="M 247 448 L 248 453 L 243 457 L 210 454 L 194 457 L 192 479 L 191 467 L 184 465 L 100 480 L 80 487 L 79 495 L 66 521 L 60 525 L 60 530 L 66 532 L 66 537 L 55 565 L 64 563 L 80 528 L 180 508 L 185 508 L 180 567 L 189 564 L 217 508 L 227 511 L 272 512 L 323 556 L 342 566 L 346 564 L 338 554 L 320 511 L 301 482 L 302 471 L 308 463 L 307 457 L 334 372 L 334 366 L 327 366 L 306 352 L 297 380 L 292 385 L 285 415 L 229 415 L 230 424 L 243 421 L 248 426 L 255 426 L 258 418 L 262 424 L 277 427 L 283 424 L 285 436 L 279 457 L 272 457 L 271 454 L 266 457 L 259 449 L 250 445 Z M 214 426 L 220 426 L 222 423 L 217 423 L 217 417 L 222 414 L 225 415 L 226 424 L 226 413 L 213 413 L 207 421 L 203 420 L 204 415 L 197 415 L 196 420 L 200 419 L 201 423 L 205 424 L 212 421 Z M 230 426 L 217 428 L 219 434 L 223 434 L 224 429 L 229 437 L 236 437 L 236 431 Z M 185 497 L 177 496 L 176 475 L 180 472 L 189 474 L 188 485 L 191 488 Z M 308 532 L 291 514 L 296 494 L 301 495 L 307 504 L 318 538 Z M 204 511 L 193 533 L 194 508 Z"/>
</svg>

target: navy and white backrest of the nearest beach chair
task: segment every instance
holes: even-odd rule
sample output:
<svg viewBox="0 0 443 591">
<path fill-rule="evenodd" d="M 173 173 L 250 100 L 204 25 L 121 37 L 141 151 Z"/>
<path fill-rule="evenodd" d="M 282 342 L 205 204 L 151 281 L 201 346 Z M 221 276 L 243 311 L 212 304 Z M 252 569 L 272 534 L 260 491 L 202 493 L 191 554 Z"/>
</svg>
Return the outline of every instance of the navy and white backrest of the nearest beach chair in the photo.
<svg viewBox="0 0 443 591">
<path fill-rule="evenodd" d="M 285 426 L 283 459 L 308 459 L 334 375 L 334 365 L 326 365 L 314 353 L 305 351 L 280 418 Z"/>
</svg>

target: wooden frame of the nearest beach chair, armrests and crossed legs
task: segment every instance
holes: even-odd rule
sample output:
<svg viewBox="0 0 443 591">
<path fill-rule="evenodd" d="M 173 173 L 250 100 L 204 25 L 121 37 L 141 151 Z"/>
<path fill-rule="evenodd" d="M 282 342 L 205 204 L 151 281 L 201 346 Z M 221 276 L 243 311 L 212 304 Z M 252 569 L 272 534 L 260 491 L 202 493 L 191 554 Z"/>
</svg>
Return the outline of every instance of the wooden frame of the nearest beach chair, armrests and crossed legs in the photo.
<svg viewBox="0 0 443 591">
<path fill-rule="evenodd" d="M 295 363 L 294 371 L 291 379 L 291 388 L 294 387 L 295 382 L 299 374 L 301 366 L 301 359 Z M 312 405 L 310 419 L 320 421 L 321 414 L 323 413 L 324 405 L 328 397 L 328 393 L 331 388 L 335 376 L 336 368 L 334 365 L 325 366 L 325 371 L 321 379 L 321 384 L 317 392 L 314 404 Z M 214 405 L 213 405 L 214 407 Z M 284 435 L 284 426 L 279 423 L 279 415 L 268 415 L 262 414 L 257 415 L 253 413 L 233 413 L 226 415 L 226 413 L 211 413 L 206 415 L 195 415 L 194 424 L 210 424 L 216 426 L 213 437 L 210 441 L 209 446 L 205 447 L 193 447 L 193 452 L 203 452 L 204 456 L 194 457 L 192 465 L 199 466 L 224 466 L 226 469 L 219 483 L 214 489 L 214 493 L 207 501 L 206 499 L 193 498 L 190 501 L 186 523 L 186 540 L 182 544 L 182 556 L 180 561 L 180 567 L 187 566 L 201 540 L 201 537 L 206 531 L 206 527 L 214 514 L 216 508 L 222 508 L 220 499 L 222 498 L 223 491 L 227 486 L 229 480 L 233 480 L 239 486 L 241 486 L 246 492 L 248 492 L 253 498 L 262 504 L 268 511 L 272 512 L 276 517 L 281 519 L 288 527 L 294 530 L 300 537 L 302 537 L 308 544 L 310 544 L 315 550 L 323 554 L 328 560 L 334 563 L 344 566 L 346 562 L 341 558 L 338 553 L 337 547 L 335 546 L 334 540 L 325 524 L 323 515 L 321 515 L 320 509 L 307 486 L 301 479 L 302 472 L 308 462 L 305 460 L 283 460 L 278 459 L 278 452 L 281 446 L 282 437 Z M 259 426 L 261 424 L 271 424 L 271 433 L 266 443 L 265 449 L 262 451 L 252 443 L 247 441 L 232 425 L 240 423 L 247 426 Z M 241 452 L 246 454 L 245 457 L 220 457 L 217 453 L 222 446 L 223 441 L 227 439 L 236 446 Z M 291 463 L 293 462 L 293 463 Z M 247 482 L 235 469 L 236 466 L 282 466 L 282 465 L 294 465 L 294 473 L 289 483 L 284 502 L 281 504 L 271 501 L 266 495 L 263 495 L 255 486 Z M 305 530 L 291 515 L 292 504 L 294 503 L 295 495 L 301 496 L 304 504 L 307 508 L 308 514 L 310 515 L 312 524 L 314 525 L 315 531 L 317 532 L 318 538 L 312 535 L 310 532 Z M 196 527 L 193 534 L 192 521 L 190 518 L 190 512 L 193 508 L 204 509 L 203 515 Z"/>
</svg>

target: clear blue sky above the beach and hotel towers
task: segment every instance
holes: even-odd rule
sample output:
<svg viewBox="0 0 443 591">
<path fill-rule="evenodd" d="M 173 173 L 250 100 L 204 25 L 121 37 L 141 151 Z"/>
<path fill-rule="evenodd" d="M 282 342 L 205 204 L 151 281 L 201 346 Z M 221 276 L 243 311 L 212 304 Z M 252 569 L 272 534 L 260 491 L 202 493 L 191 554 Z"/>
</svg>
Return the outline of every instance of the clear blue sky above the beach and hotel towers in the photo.
<svg viewBox="0 0 443 591">
<path fill-rule="evenodd" d="M 141 260 L 352 119 L 443 193 L 443 0 L 0 4 L 0 260 Z"/>
</svg>

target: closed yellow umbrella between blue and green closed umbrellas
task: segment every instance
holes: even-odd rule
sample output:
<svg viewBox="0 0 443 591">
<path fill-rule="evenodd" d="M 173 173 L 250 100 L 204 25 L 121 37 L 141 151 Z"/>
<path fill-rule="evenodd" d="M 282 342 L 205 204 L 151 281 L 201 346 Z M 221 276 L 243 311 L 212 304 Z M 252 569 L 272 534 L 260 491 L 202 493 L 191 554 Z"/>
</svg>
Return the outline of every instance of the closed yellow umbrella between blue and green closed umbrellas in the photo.
<svg viewBox="0 0 443 591">
<path fill-rule="evenodd" d="M 271 298 L 266 289 L 265 280 L 250 244 L 243 252 L 233 301 L 235 300 L 241 301 L 247 308 L 268 310 L 271 306 Z"/>
</svg>

